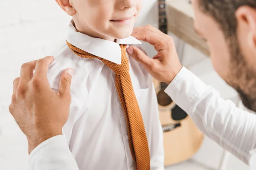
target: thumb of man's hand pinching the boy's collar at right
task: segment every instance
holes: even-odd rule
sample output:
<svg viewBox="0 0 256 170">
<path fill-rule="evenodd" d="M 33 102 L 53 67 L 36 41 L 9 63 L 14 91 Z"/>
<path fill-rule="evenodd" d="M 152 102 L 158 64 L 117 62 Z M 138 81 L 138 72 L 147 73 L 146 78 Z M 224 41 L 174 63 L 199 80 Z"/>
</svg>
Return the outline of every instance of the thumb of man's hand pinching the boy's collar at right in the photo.
<svg viewBox="0 0 256 170">
<path fill-rule="evenodd" d="M 133 57 L 137 62 L 140 62 L 144 65 L 145 68 L 150 68 L 154 63 L 154 59 L 148 57 L 143 51 L 139 48 L 130 46 L 127 48 L 127 52 Z"/>
</svg>

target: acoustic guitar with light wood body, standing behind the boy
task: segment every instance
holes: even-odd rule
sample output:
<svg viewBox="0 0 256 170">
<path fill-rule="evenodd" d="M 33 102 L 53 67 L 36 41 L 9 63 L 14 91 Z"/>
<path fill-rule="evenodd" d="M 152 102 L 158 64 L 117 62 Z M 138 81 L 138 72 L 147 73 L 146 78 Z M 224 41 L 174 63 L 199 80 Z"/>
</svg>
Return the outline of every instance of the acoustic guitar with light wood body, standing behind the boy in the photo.
<svg viewBox="0 0 256 170">
<path fill-rule="evenodd" d="M 167 34 L 166 2 L 158 0 L 159 29 Z M 165 166 L 177 164 L 191 158 L 200 148 L 203 133 L 192 119 L 164 92 L 168 85 L 154 79 L 157 93 L 159 117 L 163 127 Z"/>
</svg>

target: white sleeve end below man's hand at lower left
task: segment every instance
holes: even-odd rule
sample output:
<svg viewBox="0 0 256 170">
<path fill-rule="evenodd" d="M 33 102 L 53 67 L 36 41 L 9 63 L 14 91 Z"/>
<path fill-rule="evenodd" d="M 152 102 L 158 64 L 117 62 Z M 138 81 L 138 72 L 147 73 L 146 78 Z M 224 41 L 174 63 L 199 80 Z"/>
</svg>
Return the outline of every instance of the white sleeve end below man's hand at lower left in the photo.
<svg viewBox="0 0 256 170">
<path fill-rule="evenodd" d="M 79 170 L 62 135 L 39 144 L 29 155 L 31 170 Z"/>
</svg>

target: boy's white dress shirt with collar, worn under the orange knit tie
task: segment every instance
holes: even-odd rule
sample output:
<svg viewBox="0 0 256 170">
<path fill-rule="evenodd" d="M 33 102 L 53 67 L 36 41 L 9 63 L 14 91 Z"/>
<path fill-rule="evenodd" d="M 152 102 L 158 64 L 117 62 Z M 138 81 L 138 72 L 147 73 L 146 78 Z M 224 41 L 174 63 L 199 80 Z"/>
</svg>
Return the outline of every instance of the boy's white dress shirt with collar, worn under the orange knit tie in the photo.
<svg viewBox="0 0 256 170">
<path fill-rule="evenodd" d="M 76 31 L 70 23 L 67 32 L 67 42 L 87 51 L 95 56 L 107 59 L 111 62 L 121 64 L 121 48 L 119 44 L 141 44 L 134 37 L 128 37 L 117 42 L 89 37 Z M 49 66 L 48 80 L 51 87 L 58 90 L 62 71 L 73 68 L 71 84 L 72 102 L 70 116 L 63 127 L 63 135 L 67 140 L 64 144 L 63 137 L 58 146 L 45 145 L 58 157 L 65 156 L 63 150 L 58 148 L 69 146 L 80 170 L 131 170 L 135 167 L 128 143 L 128 132 L 125 113 L 119 101 L 115 87 L 115 74 L 99 59 L 79 57 L 67 46 L 66 40 L 57 48 L 54 62 Z M 128 55 L 127 55 L 128 56 Z M 163 169 L 163 131 L 158 115 L 157 97 L 154 91 L 152 77 L 148 72 L 129 57 L 130 75 L 135 95 L 143 116 L 145 130 L 150 150 L 150 161 L 152 170 Z M 49 141 L 51 142 L 51 141 Z M 56 141 L 55 141 L 56 142 Z M 36 152 L 37 149 L 35 149 Z M 40 154 L 37 158 L 52 160 L 46 154 Z M 32 167 L 38 169 L 63 170 L 67 164 L 75 163 L 74 160 L 59 161 L 46 165 Z M 42 165 L 44 164 L 44 165 Z M 71 168 L 72 169 L 72 168 Z"/>
</svg>

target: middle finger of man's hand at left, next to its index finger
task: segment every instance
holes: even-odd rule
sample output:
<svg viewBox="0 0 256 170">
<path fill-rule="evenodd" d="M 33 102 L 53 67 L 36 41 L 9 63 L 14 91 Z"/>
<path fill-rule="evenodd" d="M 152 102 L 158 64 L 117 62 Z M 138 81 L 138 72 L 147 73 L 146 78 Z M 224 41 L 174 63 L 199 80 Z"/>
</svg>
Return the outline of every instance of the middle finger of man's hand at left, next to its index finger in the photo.
<svg viewBox="0 0 256 170">
<path fill-rule="evenodd" d="M 20 82 L 29 82 L 33 77 L 37 60 L 24 63 L 20 69 Z"/>
</svg>

